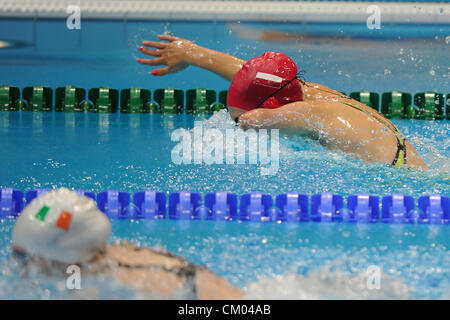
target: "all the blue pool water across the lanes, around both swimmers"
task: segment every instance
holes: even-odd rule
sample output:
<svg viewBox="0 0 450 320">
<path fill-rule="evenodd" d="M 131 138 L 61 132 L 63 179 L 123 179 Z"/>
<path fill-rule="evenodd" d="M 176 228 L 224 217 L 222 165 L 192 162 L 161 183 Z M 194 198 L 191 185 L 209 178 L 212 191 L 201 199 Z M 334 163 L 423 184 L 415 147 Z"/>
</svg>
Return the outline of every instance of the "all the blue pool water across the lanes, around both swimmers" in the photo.
<svg viewBox="0 0 450 320">
<path fill-rule="evenodd" d="M 289 41 L 261 40 L 262 29 L 287 34 Z M 62 20 L 3 19 L 0 39 L 23 45 L 0 50 L 1 78 L 21 88 L 227 88 L 224 80 L 192 67 L 151 77 L 135 62 L 136 48 L 163 32 L 243 59 L 282 51 L 306 70 L 307 80 L 345 92 L 449 91 L 448 25 L 368 30 L 358 24 L 87 20 L 81 31 L 70 31 Z M 364 164 L 308 140 L 282 137 L 276 176 L 261 176 L 256 165 L 172 163 L 171 133 L 192 128 L 195 120 L 221 130 L 232 125 L 224 111 L 212 117 L 1 112 L 0 187 L 449 195 L 448 120 L 394 120 L 431 167 L 426 172 Z M 59 283 L 21 280 L 7 263 L 12 225 L 9 219 L 0 225 L 0 297 L 67 297 Z M 206 264 L 246 287 L 250 298 L 449 298 L 448 226 L 113 220 L 113 235 Z M 383 272 L 380 290 L 366 288 L 369 266 Z M 138 297 L 104 279 L 89 285 L 103 298 Z"/>
</svg>

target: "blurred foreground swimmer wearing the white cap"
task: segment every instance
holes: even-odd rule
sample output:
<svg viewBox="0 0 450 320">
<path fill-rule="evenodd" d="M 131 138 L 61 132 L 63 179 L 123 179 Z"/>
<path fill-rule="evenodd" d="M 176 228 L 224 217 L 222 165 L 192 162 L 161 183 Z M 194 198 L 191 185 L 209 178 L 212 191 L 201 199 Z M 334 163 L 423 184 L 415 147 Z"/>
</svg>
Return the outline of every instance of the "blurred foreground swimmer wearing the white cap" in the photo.
<svg viewBox="0 0 450 320">
<path fill-rule="evenodd" d="M 81 275 L 110 276 L 149 298 L 238 299 L 241 289 L 204 266 L 165 250 L 128 242 L 109 245 L 111 224 L 94 200 L 68 189 L 34 199 L 17 218 L 12 257 L 21 274 L 38 270 L 65 276 L 76 264 Z"/>
</svg>

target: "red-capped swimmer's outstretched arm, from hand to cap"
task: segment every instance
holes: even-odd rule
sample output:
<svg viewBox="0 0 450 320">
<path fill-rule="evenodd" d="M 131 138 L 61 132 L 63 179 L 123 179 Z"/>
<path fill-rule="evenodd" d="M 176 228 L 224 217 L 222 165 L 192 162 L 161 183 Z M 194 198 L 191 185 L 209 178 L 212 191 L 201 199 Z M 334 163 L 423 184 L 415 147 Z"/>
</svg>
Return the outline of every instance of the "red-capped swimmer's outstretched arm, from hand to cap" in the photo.
<svg viewBox="0 0 450 320">
<path fill-rule="evenodd" d="M 155 57 L 138 59 L 139 63 L 149 66 L 166 66 L 154 69 L 152 71 L 154 76 L 175 73 L 193 65 L 231 81 L 246 62 L 223 52 L 203 48 L 186 39 L 170 35 L 159 35 L 158 39 L 165 41 L 145 40 L 142 42 L 143 46 L 139 47 L 142 53 Z"/>
</svg>

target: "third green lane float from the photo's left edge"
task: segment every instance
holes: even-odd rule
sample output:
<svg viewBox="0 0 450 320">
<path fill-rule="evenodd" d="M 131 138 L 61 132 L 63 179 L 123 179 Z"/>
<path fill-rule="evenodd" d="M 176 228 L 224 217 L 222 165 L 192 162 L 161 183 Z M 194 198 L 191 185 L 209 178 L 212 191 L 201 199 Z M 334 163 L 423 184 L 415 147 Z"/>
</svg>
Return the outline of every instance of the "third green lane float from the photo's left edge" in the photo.
<svg viewBox="0 0 450 320">
<path fill-rule="evenodd" d="M 74 86 L 58 87 L 55 90 L 55 111 L 60 112 L 83 112 L 89 111 L 90 104 L 82 102 L 86 99 L 86 90 Z"/>
</svg>

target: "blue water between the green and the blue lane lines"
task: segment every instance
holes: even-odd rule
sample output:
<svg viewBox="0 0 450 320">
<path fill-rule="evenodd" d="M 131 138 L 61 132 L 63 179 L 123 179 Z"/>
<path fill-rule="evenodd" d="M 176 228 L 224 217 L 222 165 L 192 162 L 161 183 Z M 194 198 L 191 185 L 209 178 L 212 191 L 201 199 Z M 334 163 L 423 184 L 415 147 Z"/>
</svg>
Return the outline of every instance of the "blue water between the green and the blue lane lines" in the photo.
<svg viewBox="0 0 450 320">
<path fill-rule="evenodd" d="M 174 164 L 171 151 L 177 142 L 170 140 L 171 134 L 177 128 L 193 128 L 195 120 L 216 123 L 214 127 L 224 134 L 230 126 L 225 112 L 208 120 L 188 115 L 2 112 L 0 186 L 22 190 L 66 186 L 95 192 L 449 194 L 450 123 L 446 120 L 394 121 L 423 154 L 431 167 L 428 171 L 364 164 L 309 140 L 281 137 L 275 176 L 261 176 L 261 167 L 253 164 Z"/>
</svg>

